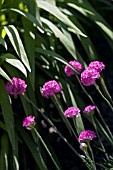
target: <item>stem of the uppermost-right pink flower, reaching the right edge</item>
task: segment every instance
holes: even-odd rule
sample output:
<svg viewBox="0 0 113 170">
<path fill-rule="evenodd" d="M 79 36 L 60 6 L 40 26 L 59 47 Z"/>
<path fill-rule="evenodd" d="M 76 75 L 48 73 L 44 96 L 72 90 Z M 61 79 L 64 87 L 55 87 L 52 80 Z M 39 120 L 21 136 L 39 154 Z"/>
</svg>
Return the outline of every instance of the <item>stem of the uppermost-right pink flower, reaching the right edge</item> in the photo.
<svg viewBox="0 0 113 170">
<path fill-rule="evenodd" d="M 112 98 L 111 98 L 111 96 L 110 96 L 110 94 L 109 94 L 109 91 L 108 91 L 108 89 L 107 89 L 107 87 L 106 87 L 106 85 L 105 85 L 105 82 L 104 82 L 103 78 L 100 77 L 99 80 L 100 80 L 100 83 L 101 83 L 101 85 L 102 85 L 102 89 L 103 89 L 106 97 L 108 97 L 108 99 L 109 99 L 109 100 L 111 101 L 111 103 L 113 104 L 113 100 L 112 100 Z"/>
</svg>

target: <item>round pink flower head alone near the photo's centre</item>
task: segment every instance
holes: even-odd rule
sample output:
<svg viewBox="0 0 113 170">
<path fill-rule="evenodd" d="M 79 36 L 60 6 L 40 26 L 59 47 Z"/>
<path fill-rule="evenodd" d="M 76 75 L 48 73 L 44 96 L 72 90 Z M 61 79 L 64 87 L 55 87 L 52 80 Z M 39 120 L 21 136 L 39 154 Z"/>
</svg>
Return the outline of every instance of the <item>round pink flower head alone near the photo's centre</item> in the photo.
<svg viewBox="0 0 113 170">
<path fill-rule="evenodd" d="M 51 80 L 43 85 L 42 95 L 48 98 L 49 96 L 53 96 L 55 93 L 61 92 L 61 90 L 61 86 L 55 80 Z"/>
</svg>

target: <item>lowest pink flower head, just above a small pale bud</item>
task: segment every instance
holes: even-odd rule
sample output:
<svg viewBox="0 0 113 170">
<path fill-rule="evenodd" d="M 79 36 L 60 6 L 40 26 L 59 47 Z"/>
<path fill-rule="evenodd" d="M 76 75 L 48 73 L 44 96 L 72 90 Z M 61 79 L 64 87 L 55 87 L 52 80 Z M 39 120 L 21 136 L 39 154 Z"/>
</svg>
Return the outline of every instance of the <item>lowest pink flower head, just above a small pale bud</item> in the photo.
<svg viewBox="0 0 113 170">
<path fill-rule="evenodd" d="M 85 142 L 85 141 L 93 140 L 93 138 L 96 138 L 96 134 L 94 131 L 84 130 L 80 133 L 78 141 Z"/>
</svg>

